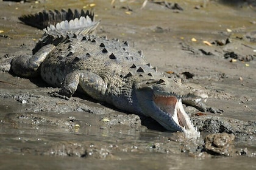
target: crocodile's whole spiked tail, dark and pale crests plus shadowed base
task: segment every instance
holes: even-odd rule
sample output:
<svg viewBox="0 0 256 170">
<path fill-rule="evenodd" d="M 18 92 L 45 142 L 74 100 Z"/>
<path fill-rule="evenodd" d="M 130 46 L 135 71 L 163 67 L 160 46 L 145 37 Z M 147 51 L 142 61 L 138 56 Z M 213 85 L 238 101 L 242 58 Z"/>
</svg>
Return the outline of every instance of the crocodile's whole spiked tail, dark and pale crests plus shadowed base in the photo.
<svg viewBox="0 0 256 170">
<path fill-rule="evenodd" d="M 39 39 L 33 53 L 37 52 L 46 44 L 57 46 L 69 36 L 88 35 L 93 33 L 99 25 L 99 21 L 94 21 L 94 14 L 87 10 L 49 10 L 36 13 L 35 15 L 23 15 L 19 18 L 25 24 L 44 30 L 44 35 Z"/>
</svg>

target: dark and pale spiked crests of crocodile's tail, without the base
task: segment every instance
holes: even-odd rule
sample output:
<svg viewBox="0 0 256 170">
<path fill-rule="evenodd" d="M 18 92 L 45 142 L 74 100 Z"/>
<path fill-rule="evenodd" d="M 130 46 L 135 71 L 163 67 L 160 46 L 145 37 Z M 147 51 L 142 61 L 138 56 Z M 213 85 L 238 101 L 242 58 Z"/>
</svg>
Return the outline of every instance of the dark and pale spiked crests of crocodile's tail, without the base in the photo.
<svg viewBox="0 0 256 170">
<path fill-rule="evenodd" d="M 19 18 L 25 24 L 44 29 L 49 35 L 90 34 L 99 22 L 94 21 L 94 14 L 87 10 L 43 10 L 34 15 L 23 15 Z"/>
</svg>

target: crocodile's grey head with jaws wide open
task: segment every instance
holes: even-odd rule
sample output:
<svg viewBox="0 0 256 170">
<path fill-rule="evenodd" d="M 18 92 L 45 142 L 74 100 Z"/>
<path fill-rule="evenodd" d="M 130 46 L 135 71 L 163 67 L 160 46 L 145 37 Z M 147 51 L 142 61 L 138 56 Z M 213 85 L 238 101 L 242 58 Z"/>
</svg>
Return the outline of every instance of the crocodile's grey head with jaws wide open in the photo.
<svg viewBox="0 0 256 170">
<path fill-rule="evenodd" d="M 138 107 L 142 114 L 154 118 L 169 131 L 183 131 L 199 136 L 182 106 L 182 98 L 199 98 L 181 83 L 169 78 L 145 81 L 136 86 Z"/>
</svg>

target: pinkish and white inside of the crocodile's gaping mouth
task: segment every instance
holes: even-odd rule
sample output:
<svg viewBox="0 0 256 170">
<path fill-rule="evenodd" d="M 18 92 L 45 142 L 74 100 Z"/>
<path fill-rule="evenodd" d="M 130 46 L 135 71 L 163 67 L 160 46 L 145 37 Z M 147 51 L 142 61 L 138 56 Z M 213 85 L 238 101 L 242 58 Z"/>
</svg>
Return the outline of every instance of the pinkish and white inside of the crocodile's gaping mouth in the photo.
<svg viewBox="0 0 256 170">
<path fill-rule="evenodd" d="M 171 115 L 171 118 L 183 131 L 191 128 L 192 124 L 190 118 L 183 109 L 182 100 L 180 98 L 158 96 L 155 97 L 154 102 L 159 109 Z"/>
</svg>

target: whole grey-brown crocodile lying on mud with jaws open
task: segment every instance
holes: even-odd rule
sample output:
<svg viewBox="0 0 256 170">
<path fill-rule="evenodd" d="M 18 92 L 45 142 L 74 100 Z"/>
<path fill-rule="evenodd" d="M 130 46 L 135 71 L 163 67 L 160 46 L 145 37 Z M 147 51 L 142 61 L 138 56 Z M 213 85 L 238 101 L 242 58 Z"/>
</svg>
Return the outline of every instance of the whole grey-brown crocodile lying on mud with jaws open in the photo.
<svg viewBox="0 0 256 170">
<path fill-rule="evenodd" d="M 182 100 L 202 108 L 205 105 L 201 100 L 207 95 L 158 72 L 145 60 L 143 52 L 130 47 L 127 41 L 94 35 L 99 21 L 94 20 L 92 12 L 55 10 L 25 16 L 23 21 L 35 18 L 44 19 L 37 27 L 49 25 L 32 55 L 12 59 L 15 75 L 41 77 L 61 88 L 55 95 L 70 98 L 74 92 L 82 92 L 126 112 L 151 117 L 168 131 L 182 131 L 190 137 L 200 135 L 183 109 Z"/>
</svg>

